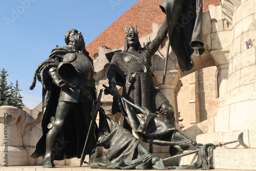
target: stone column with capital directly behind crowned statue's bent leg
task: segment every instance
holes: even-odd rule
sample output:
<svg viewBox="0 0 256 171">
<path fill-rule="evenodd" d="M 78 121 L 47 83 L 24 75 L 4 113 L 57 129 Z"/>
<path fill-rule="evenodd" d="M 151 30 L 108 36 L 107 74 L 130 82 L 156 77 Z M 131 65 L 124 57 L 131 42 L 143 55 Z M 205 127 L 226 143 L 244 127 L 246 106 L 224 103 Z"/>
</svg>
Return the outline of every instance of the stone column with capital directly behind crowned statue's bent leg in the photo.
<svg viewBox="0 0 256 171">
<path fill-rule="evenodd" d="M 170 104 L 173 105 L 175 110 L 175 120 L 178 123 L 178 112 L 177 112 L 177 99 L 175 98 L 175 88 L 180 79 L 180 72 L 178 70 L 167 71 L 165 77 L 165 83 L 163 84 L 163 71 L 154 71 L 155 81 L 158 84 L 160 92 L 167 98 Z"/>
</svg>

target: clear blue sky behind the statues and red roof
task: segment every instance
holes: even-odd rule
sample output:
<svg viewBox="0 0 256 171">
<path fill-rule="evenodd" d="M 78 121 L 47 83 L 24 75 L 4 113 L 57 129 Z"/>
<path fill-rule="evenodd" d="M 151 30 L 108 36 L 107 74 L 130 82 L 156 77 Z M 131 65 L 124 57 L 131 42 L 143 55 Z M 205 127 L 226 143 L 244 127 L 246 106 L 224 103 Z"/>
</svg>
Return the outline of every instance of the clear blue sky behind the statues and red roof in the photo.
<svg viewBox="0 0 256 171">
<path fill-rule="evenodd" d="M 19 83 L 23 102 L 33 109 L 41 102 L 41 84 L 29 90 L 33 74 L 58 44 L 65 46 L 70 29 L 82 32 L 86 45 L 138 0 L 9 0 L 0 2 L 0 69 L 8 83 Z"/>
</svg>

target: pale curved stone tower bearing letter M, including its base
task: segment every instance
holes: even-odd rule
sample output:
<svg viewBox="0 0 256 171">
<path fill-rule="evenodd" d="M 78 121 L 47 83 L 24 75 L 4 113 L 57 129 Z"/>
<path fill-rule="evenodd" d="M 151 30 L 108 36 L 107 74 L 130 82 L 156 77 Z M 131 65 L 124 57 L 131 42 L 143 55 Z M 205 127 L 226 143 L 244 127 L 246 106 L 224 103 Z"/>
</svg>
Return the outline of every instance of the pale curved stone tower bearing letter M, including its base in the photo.
<svg viewBox="0 0 256 171">
<path fill-rule="evenodd" d="M 256 169 L 255 5 L 256 2 L 253 0 L 222 0 L 221 8 L 209 7 L 210 14 L 217 17 L 220 14 L 218 18 L 222 18 L 217 19 L 216 26 L 219 26 L 218 23 L 226 22 L 226 26 L 231 27 L 231 32 L 226 31 L 226 35 L 225 29 L 222 31 L 223 34 L 217 31 L 220 37 L 226 37 L 222 38 L 221 42 L 225 40 L 229 46 L 210 52 L 218 68 L 219 108 L 216 116 L 191 126 L 183 133 L 201 133 L 196 136 L 198 142 L 217 144 L 237 140 L 238 135 L 243 132 L 244 143 L 248 146 L 244 148 L 236 142 L 225 147 L 217 147 L 211 160 L 212 168 Z M 218 10 L 221 11 L 216 12 Z M 182 158 L 180 163 L 188 164 L 195 159 L 196 156 L 191 155 Z"/>
</svg>

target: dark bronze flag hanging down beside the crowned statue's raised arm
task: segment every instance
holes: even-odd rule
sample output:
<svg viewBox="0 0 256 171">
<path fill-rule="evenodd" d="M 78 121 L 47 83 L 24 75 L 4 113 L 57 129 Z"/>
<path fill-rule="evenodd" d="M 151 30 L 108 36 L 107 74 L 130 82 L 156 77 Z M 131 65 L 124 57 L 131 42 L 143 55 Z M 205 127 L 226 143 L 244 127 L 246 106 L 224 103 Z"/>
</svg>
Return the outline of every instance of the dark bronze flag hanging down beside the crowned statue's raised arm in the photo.
<svg viewBox="0 0 256 171">
<path fill-rule="evenodd" d="M 170 46 L 183 73 L 193 68 L 193 58 L 203 54 L 202 0 L 164 0 Z"/>
</svg>

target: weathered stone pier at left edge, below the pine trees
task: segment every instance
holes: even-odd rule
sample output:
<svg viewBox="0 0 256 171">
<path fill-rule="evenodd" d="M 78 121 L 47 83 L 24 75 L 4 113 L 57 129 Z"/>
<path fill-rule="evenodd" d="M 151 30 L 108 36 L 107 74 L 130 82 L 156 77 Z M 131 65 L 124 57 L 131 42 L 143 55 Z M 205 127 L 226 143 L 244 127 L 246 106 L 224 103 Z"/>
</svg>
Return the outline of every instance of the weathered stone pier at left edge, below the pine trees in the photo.
<svg viewBox="0 0 256 171">
<path fill-rule="evenodd" d="M 25 111 L 13 106 L 0 107 L 0 165 L 28 165 L 28 152 L 20 134 Z"/>
</svg>

